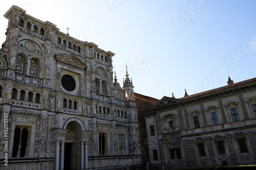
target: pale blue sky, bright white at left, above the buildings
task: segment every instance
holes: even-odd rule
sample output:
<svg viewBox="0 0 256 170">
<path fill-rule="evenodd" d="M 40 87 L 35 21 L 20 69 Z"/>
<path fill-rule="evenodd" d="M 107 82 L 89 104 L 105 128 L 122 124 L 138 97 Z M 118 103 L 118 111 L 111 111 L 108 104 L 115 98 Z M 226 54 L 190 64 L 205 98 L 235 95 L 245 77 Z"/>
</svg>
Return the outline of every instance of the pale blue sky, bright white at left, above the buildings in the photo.
<svg viewBox="0 0 256 170">
<path fill-rule="evenodd" d="M 134 92 L 152 98 L 226 86 L 228 76 L 234 83 L 256 77 L 256 1 L 4 1 L 1 44 L 12 5 L 115 53 L 120 85 L 127 63 Z"/>
</svg>

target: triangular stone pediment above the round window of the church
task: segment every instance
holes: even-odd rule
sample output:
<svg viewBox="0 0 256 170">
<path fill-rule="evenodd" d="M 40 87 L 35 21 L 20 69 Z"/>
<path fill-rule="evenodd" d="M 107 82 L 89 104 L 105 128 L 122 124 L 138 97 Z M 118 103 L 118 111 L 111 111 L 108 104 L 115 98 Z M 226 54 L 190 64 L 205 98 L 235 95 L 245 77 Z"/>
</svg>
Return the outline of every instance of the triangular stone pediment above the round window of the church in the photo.
<svg viewBox="0 0 256 170">
<path fill-rule="evenodd" d="M 78 66 L 80 68 L 86 68 L 87 65 L 84 64 L 80 59 L 78 59 L 75 55 L 56 55 L 54 57 L 57 62 L 67 63 L 69 65 Z"/>
</svg>

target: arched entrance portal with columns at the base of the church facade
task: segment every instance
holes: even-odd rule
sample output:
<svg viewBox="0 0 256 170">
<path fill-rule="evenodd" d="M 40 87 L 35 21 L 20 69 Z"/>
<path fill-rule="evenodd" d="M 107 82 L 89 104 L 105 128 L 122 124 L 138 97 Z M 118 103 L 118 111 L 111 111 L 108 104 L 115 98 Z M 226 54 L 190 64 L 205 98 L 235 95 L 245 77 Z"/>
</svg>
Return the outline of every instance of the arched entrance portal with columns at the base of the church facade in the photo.
<svg viewBox="0 0 256 170">
<path fill-rule="evenodd" d="M 55 129 L 55 169 L 84 169 L 88 167 L 88 141 L 90 132 L 78 118 L 70 118 L 63 129 Z M 60 161 L 59 161 L 60 160 Z M 59 168 L 60 167 L 60 168 Z"/>
</svg>

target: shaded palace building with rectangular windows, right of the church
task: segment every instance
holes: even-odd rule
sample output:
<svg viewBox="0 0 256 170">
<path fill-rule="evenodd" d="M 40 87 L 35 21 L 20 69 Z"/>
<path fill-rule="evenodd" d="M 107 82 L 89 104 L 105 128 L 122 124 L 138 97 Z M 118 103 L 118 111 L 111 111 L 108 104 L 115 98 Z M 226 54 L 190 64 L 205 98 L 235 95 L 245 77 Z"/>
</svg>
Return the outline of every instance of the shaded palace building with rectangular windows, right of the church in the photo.
<svg viewBox="0 0 256 170">
<path fill-rule="evenodd" d="M 163 169 L 255 164 L 256 78 L 164 96 L 144 116 L 151 164 Z"/>
</svg>

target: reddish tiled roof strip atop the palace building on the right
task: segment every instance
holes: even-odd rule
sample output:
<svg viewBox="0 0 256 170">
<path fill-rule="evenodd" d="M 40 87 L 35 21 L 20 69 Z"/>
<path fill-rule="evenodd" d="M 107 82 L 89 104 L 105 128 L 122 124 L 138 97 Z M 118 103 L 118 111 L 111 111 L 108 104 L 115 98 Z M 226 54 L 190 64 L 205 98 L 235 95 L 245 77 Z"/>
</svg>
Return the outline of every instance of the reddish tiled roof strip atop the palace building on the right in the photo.
<svg viewBox="0 0 256 170">
<path fill-rule="evenodd" d="M 203 92 L 196 93 L 196 94 L 191 94 L 191 95 L 188 95 L 188 96 L 184 96 L 183 98 L 179 98 L 179 100 L 193 98 L 193 97 L 198 96 L 198 95 L 203 95 L 203 94 L 207 94 L 207 93 L 211 93 L 211 92 L 216 92 L 216 91 L 219 91 L 219 90 L 227 89 L 229 87 L 238 86 L 238 85 L 242 85 L 242 84 L 246 84 L 246 83 L 250 83 L 250 82 L 254 82 L 254 81 L 256 81 L 256 78 L 248 79 L 248 80 L 245 80 L 245 81 L 242 81 L 242 82 L 234 83 L 232 85 L 227 85 L 227 86 L 211 89 L 211 90 L 203 91 Z"/>
</svg>

